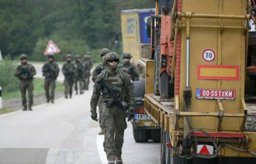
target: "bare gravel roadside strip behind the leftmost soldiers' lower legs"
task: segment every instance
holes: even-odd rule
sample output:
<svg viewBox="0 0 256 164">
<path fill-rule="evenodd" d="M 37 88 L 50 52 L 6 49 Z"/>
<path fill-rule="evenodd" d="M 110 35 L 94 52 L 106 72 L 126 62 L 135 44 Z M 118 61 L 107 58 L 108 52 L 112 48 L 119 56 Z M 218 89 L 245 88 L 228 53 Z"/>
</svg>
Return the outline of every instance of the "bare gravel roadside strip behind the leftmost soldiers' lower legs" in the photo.
<svg viewBox="0 0 256 164">
<path fill-rule="evenodd" d="M 55 98 L 62 97 L 62 96 L 64 96 L 63 91 L 55 92 Z M 38 95 L 34 96 L 34 106 L 42 104 L 42 103 L 46 103 L 45 94 L 38 94 Z M 5 109 L 21 110 L 22 109 L 21 97 L 3 100 L 3 107 Z"/>
</svg>

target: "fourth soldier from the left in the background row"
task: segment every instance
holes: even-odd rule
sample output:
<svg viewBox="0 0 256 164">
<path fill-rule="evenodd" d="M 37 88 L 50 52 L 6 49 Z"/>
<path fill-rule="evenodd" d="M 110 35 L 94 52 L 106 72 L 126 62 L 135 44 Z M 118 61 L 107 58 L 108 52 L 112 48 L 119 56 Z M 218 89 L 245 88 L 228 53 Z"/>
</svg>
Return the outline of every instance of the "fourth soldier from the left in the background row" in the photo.
<svg viewBox="0 0 256 164">
<path fill-rule="evenodd" d="M 80 94 L 83 94 L 84 92 L 82 91 L 82 75 L 83 75 L 83 66 L 81 62 L 81 57 L 80 55 L 75 55 L 75 67 L 76 67 L 76 75 L 75 75 L 75 90 L 76 94 L 78 94 L 78 86 L 77 83 L 79 83 L 79 89 L 80 89 Z"/>
</svg>

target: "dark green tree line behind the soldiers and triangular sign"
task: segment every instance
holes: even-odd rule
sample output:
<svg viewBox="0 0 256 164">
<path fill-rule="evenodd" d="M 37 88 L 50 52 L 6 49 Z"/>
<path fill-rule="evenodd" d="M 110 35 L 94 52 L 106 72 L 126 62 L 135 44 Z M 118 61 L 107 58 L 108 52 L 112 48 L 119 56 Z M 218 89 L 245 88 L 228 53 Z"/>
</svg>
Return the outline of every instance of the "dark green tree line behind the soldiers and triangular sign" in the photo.
<svg viewBox="0 0 256 164">
<path fill-rule="evenodd" d="M 152 8 L 155 0 L 1 0 L 0 50 L 43 61 L 48 40 L 67 53 L 81 54 L 108 47 L 120 49 L 120 11 Z M 119 42 L 116 42 L 119 41 Z"/>
</svg>

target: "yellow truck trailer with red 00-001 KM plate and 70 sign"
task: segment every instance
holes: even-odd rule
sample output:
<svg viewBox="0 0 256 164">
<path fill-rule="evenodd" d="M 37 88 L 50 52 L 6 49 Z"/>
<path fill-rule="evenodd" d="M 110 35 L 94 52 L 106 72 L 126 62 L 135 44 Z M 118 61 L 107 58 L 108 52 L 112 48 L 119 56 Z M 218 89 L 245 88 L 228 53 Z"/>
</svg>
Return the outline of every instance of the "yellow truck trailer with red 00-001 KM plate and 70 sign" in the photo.
<svg viewBox="0 0 256 164">
<path fill-rule="evenodd" d="M 250 3 L 156 1 L 151 51 L 139 61 L 161 163 L 256 163 L 256 105 L 245 102 Z"/>
</svg>

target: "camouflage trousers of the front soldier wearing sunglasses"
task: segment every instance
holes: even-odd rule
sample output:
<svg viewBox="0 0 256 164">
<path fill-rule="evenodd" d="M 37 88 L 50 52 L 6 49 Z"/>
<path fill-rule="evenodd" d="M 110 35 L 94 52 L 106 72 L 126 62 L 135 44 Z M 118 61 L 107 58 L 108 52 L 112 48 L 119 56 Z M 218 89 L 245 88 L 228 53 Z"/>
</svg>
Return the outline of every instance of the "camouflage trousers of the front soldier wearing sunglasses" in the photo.
<svg viewBox="0 0 256 164">
<path fill-rule="evenodd" d="M 126 115 L 117 105 L 108 108 L 104 103 L 102 110 L 101 123 L 105 129 L 104 151 L 108 160 L 115 159 L 122 155 L 123 134 L 127 128 Z"/>
</svg>

